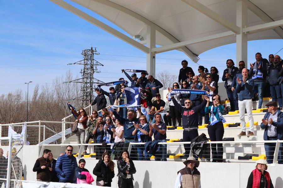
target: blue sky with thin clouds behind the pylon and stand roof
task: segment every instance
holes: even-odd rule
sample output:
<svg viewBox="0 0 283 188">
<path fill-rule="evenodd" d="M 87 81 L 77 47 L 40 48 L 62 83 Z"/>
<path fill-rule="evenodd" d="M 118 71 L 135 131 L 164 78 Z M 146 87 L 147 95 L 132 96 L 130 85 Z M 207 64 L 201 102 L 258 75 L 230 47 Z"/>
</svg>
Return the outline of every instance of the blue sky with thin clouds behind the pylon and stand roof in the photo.
<svg viewBox="0 0 283 188">
<path fill-rule="evenodd" d="M 96 13 L 67 2 L 126 34 Z M 24 83 L 28 81 L 32 81 L 32 91 L 36 84 L 51 84 L 67 70 L 80 76 L 81 65 L 67 64 L 82 60 L 81 50 L 91 46 L 97 47 L 101 55 L 96 60 L 104 65 L 99 67 L 101 73 L 95 74 L 99 80 L 108 82 L 125 77 L 122 68 L 146 68 L 145 53 L 48 0 L 0 1 L 0 25 L 0 94 L 18 88 L 26 91 Z M 282 39 L 249 41 L 248 62 L 254 62 L 256 52 L 268 58 L 282 46 Z M 278 55 L 283 56 L 282 52 Z M 222 76 L 226 60 L 236 61 L 236 44 L 208 50 L 199 57 L 199 64 L 208 69 L 215 65 Z M 197 64 L 173 50 L 156 55 L 156 73 L 170 70 L 178 75 L 183 59 L 197 72 Z"/>
</svg>

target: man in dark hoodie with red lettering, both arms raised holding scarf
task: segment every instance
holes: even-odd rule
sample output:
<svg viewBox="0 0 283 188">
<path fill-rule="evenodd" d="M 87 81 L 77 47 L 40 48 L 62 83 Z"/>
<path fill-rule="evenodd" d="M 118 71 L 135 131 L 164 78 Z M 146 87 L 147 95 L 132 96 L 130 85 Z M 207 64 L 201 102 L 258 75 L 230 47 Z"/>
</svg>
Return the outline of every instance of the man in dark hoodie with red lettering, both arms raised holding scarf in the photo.
<svg viewBox="0 0 283 188">
<path fill-rule="evenodd" d="M 198 105 L 192 107 L 191 99 L 186 98 L 185 99 L 185 107 L 182 107 L 174 98 L 174 95 L 171 96 L 171 99 L 179 110 L 179 112 L 182 115 L 182 124 L 183 124 L 183 142 L 190 142 L 192 139 L 196 138 L 198 136 L 198 122 L 197 117 L 198 113 L 204 109 L 207 102 L 209 101 L 209 97 L 205 96 L 205 100 Z M 190 150 L 191 150 L 191 144 L 184 144 L 185 148 L 185 157 L 189 157 Z"/>
</svg>

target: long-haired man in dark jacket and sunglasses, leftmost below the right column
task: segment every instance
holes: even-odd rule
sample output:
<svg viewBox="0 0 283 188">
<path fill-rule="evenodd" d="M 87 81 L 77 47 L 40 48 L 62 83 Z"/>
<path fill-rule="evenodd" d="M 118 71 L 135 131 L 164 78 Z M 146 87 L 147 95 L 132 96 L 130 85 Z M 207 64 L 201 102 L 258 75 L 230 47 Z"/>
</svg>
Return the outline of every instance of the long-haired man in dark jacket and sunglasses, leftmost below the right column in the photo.
<svg viewBox="0 0 283 188">
<path fill-rule="evenodd" d="M 229 59 L 226 61 L 227 69 L 224 70 L 222 81 L 225 81 L 225 88 L 227 92 L 228 99 L 230 101 L 231 111 L 238 110 L 238 101 L 237 93 L 232 91 L 232 87 L 235 88 L 235 85 L 232 84 L 233 78 L 236 75 L 236 71 L 239 70 L 234 65 L 234 61 Z"/>
</svg>

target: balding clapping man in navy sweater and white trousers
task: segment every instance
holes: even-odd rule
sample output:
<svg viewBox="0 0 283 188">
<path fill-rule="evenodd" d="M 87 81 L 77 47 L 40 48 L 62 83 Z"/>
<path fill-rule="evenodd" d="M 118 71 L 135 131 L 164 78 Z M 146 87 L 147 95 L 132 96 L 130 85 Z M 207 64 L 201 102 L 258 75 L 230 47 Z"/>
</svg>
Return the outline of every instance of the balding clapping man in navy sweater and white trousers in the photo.
<svg viewBox="0 0 283 188">
<path fill-rule="evenodd" d="M 238 93 L 238 105 L 240 112 L 240 123 L 242 131 L 238 136 L 246 135 L 246 121 L 245 121 L 245 110 L 247 110 L 247 116 L 250 122 L 250 131 L 248 136 L 253 135 L 253 117 L 252 117 L 252 87 L 253 80 L 248 77 L 248 70 L 242 69 L 242 78 L 237 78 L 237 86 L 235 91 Z"/>
</svg>

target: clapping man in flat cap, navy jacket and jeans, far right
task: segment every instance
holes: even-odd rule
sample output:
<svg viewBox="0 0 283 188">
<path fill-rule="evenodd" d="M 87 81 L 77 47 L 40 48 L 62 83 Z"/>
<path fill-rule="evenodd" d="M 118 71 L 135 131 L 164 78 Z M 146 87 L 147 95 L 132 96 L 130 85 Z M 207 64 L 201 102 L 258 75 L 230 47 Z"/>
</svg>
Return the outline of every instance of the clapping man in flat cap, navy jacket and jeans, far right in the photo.
<svg viewBox="0 0 283 188">
<path fill-rule="evenodd" d="M 277 102 L 268 102 L 268 112 L 264 115 L 260 127 L 264 129 L 264 140 L 283 140 L 283 112 L 277 108 Z M 273 163 L 276 143 L 264 143 L 267 163 Z M 276 159 L 275 159 L 276 160 Z M 283 164 L 283 143 L 280 143 L 278 163 Z"/>
</svg>

